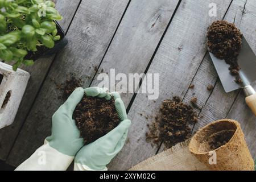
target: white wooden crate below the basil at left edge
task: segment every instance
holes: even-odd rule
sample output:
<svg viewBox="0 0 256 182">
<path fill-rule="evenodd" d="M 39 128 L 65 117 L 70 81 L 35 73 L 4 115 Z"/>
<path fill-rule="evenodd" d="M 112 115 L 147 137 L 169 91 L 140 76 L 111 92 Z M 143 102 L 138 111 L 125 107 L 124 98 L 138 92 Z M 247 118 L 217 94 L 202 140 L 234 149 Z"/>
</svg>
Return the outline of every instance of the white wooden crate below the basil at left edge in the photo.
<svg viewBox="0 0 256 182">
<path fill-rule="evenodd" d="M 29 78 L 30 73 L 22 69 L 15 72 L 0 62 L 0 129 L 13 123 Z"/>
</svg>

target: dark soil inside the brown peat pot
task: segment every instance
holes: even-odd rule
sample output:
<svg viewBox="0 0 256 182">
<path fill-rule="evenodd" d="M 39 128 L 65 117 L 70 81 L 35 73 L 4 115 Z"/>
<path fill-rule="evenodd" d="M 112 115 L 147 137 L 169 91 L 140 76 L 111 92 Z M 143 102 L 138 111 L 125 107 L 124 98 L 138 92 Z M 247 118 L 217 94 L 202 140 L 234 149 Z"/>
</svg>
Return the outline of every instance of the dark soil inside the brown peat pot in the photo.
<svg viewBox="0 0 256 182">
<path fill-rule="evenodd" d="M 225 130 L 217 133 L 209 138 L 210 150 L 215 150 L 221 146 L 224 146 L 233 137 L 234 130 Z"/>
</svg>

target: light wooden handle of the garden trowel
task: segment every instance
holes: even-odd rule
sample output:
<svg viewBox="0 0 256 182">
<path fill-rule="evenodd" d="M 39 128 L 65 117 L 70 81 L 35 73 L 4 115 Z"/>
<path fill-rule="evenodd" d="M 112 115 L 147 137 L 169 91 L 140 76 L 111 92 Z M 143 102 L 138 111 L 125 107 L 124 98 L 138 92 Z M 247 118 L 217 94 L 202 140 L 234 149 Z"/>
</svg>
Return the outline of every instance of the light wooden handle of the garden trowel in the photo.
<svg viewBox="0 0 256 182">
<path fill-rule="evenodd" d="M 246 86 L 243 88 L 245 92 L 245 102 L 247 106 L 250 107 L 251 111 L 253 111 L 254 115 L 256 116 L 256 93 L 252 86 Z"/>
</svg>

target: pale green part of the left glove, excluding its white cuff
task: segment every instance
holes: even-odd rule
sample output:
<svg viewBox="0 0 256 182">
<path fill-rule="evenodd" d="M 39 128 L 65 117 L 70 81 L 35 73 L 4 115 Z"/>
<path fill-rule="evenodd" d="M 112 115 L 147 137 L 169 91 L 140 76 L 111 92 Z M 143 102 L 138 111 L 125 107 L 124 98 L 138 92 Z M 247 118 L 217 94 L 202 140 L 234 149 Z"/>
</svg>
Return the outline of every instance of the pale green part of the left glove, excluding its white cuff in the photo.
<svg viewBox="0 0 256 182">
<path fill-rule="evenodd" d="M 84 145 L 80 131 L 72 119 L 76 105 L 82 100 L 84 89 L 77 88 L 52 116 L 52 135 L 47 137 L 49 146 L 62 154 L 75 156 Z"/>
</svg>

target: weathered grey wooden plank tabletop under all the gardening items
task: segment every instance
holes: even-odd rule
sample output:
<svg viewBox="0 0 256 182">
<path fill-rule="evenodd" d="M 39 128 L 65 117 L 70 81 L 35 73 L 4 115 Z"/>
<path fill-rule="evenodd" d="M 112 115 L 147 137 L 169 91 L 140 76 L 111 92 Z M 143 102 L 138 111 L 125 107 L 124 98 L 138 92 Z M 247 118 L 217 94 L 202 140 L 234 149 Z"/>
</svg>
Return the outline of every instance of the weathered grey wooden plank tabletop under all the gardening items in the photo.
<svg viewBox="0 0 256 182">
<path fill-rule="evenodd" d="M 210 3 L 217 5 L 216 17 L 208 15 Z M 225 19 L 236 23 L 256 52 L 255 0 L 58 0 L 56 9 L 69 43 L 57 55 L 23 67 L 31 78 L 15 122 L 0 130 L 1 160 L 18 166 L 51 134 L 52 114 L 63 103 L 53 79 L 62 83 L 75 73 L 87 88 L 111 68 L 116 74 L 159 73 L 159 98 L 121 95 L 132 125 L 110 170 L 129 169 L 163 150 L 146 143 L 145 133 L 161 102 L 173 96 L 184 102 L 197 97 L 200 119 L 193 131 L 217 119 L 239 121 L 256 158 L 256 118 L 241 90 L 224 92 L 205 44 L 209 25 Z M 214 86 L 210 92 L 208 85 Z"/>
</svg>

